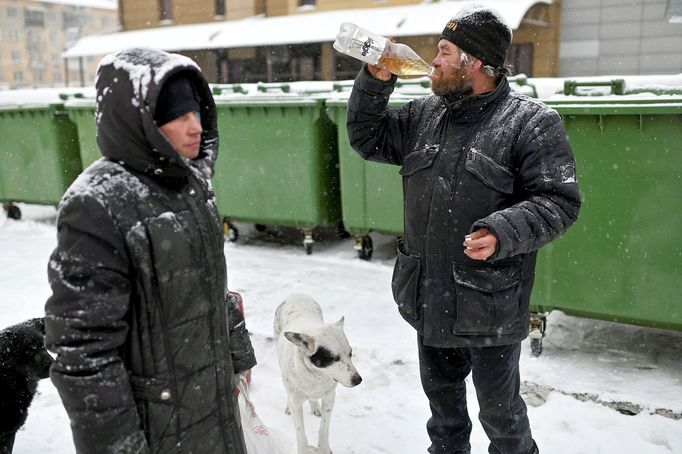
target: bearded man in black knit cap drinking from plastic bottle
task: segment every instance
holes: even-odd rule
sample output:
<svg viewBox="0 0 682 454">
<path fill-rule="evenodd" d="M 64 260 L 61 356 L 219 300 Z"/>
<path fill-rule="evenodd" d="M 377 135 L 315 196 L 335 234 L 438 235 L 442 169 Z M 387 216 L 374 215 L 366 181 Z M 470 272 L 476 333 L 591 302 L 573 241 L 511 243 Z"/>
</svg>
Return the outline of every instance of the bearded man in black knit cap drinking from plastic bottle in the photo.
<svg viewBox="0 0 682 454">
<path fill-rule="evenodd" d="M 401 166 L 392 289 L 418 333 L 434 454 L 471 450 L 470 373 L 488 452 L 538 452 L 519 395 L 521 341 L 537 251 L 576 221 L 581 202 L 561 118 L 509 87 L 511 39 L 499 13 L 467 6 L 438 43 L 434 96 L 389 109 L 396 77 L 366 65 L 348 102 L 355 150 Z"/>
</svg>

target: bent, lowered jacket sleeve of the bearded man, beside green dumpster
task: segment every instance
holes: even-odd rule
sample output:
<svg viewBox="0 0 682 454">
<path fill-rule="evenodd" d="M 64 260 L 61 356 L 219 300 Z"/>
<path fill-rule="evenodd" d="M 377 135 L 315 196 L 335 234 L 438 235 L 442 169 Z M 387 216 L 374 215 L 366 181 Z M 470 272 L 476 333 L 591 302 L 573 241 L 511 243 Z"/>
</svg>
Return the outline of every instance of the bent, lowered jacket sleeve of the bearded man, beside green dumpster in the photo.
<svg viewBox="0 0 682 454">
<path fill-rule="evenodd" d="M 575 159 L 559 114 L 539 109 L 516 146 L 519 203 L 474 223 L 498 239 L 490 260 L 538 250 L 564 233 L 578 218 L 580 192 Z"/>
</svg>

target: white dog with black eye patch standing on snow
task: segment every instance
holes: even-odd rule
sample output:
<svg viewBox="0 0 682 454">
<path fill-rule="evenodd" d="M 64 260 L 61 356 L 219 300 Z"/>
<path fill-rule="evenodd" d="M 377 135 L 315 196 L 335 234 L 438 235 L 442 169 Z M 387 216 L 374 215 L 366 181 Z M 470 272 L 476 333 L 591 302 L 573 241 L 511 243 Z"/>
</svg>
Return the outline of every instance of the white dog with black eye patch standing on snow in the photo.
<svg viewBox="0 0 682 454">
<path fill-rule="evenodd" d="M 298 454 L 330 454 L 329 422 L 336 384 L 360 384 L 362 377 L 351 361 L 351 348 L 343 333 L 343 317 L 327 324 L 322 309 L 308 295 L 293 294 L 275 312 L 277 356 L 287 390 L 287 409 L 296 429 Z M 322 411 L 318 399 L 322 400 Z M 322 416 L 318 449 L 308 446 L 303 425 L 303 402 L 310 401 L 313 412 Z"/>
</svg>

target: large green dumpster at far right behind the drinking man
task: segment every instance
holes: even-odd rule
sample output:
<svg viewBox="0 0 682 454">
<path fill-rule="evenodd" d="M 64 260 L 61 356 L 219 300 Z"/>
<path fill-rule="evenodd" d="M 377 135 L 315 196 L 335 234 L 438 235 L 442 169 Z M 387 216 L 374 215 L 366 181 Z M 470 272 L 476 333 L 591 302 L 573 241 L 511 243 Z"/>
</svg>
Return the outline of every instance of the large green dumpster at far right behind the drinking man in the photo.
<svg viewBox="0 0 682 454">
<path fill-rule="evenodd" d="M 682 96 L 546 103 L 566 126 L 583 207 L 576 225 L 540 251 L 534 354 L 552 309 L 682 330 Z"/>
</svg>

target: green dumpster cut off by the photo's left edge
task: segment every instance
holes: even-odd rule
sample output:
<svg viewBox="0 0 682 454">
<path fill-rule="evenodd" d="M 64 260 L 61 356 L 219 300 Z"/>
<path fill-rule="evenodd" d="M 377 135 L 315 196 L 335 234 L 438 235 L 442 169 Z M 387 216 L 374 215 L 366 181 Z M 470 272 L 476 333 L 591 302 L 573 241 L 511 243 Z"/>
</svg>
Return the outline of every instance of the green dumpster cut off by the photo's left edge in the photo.
<svg viewBox="0 0 682 454">
<path fill-rule="evenodd" d="M 76 125 L 64 105 L 0 106 L 0 201 L 57 205 L 81 171 Z"/>
</svg>

